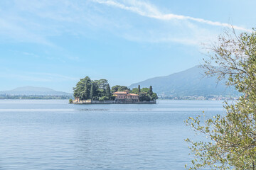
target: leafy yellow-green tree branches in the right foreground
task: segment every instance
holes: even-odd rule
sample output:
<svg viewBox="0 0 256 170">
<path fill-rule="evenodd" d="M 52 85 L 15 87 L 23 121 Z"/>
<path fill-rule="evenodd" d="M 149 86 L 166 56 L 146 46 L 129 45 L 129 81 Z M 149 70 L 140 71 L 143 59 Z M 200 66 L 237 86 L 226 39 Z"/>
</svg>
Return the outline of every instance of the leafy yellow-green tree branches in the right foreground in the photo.
<svg viewBox="0 0 256 170">
<path fill-rule="evenodd" d="M 186 123 L 210 142 L 187 139 L 195 159 L 189 169 L 256 169 L 256 33 L 225 33 L 204 60 L 209 76 L 225 79 L 242 96 L 225 102 L 225 115 L 204 120 L 199 115 Z M 203 121 L 203 122 L 202 122 Z"/>
</svg>

